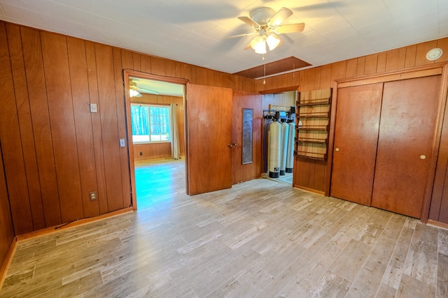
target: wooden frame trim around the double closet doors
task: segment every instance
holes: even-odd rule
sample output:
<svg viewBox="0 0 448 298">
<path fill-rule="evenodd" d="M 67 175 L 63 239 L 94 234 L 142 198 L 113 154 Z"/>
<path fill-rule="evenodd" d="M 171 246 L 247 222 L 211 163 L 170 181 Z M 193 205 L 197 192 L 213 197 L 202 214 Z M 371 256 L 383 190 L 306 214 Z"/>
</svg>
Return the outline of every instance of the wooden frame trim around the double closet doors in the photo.
<svg viewBox="0 0 448 298">
<path fill-rule="evenodd" d="M 421 210 L 420 221 L 428 223 L 430 200 L 433 193 L 433 184 L 435 178 L 435 166 L 437 164 L 437 152 L 440 146 L 440 136 L 442 133 L 442 123 L 444 118 L 444 107 L 447 104 L 448 95 L 448 64 L 432 64 L 430 66 L 421 66 L 409 68 L 400 71 L 391 71 L 381 73 L 381 75 L 365 75 L 362 77 L 345 78 L 334 80 L 332 82 L 332 106 L 330 115 L 330 131 L 328 135 L 328 161 L 325 169 L 325 196 L 330 195 L 331 173 L 332 173 L 332 152 L 335 139 L 336 124 L 336 107 L 337 107 L 337 91 L 339 88 L 360 86 L 365 84 L 373 84 L 378 82 L 393 82 L 398 80 L 407 80 L 417 77 L 428 77 L 432 75 L 441 75 L 440 90 L 437 104 L 437 117 L 435 119 L 435 130 L 433 134 L 433 156 L 430 161 L 428 177 L 426 178 L 425 192 L 423 195 L 423 207 Z"/>
</svg>

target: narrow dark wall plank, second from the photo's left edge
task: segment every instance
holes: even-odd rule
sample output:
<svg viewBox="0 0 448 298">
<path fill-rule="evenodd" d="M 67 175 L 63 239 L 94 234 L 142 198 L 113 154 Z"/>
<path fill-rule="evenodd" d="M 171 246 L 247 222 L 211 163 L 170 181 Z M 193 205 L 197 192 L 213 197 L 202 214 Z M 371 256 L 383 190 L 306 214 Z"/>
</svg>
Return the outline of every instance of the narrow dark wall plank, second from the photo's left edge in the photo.
<svg viewBox="0 0 448 298">
<path fill-rule="evenodd" d="M 10 63 L 13 70 L 15 101 L 18 110 L 20 137 L 22 140 L 23 158 L 25 161 L 29 203 L 34 230 L 45 228 L 45 216 L 41 195 L 41 183 L 36 160 L 36 146 L 34 145 L 33 124 L 25 76 L 25 62 L 22 54 L 22 40 L 20 27 L 7 24 Z"/>
</svg>

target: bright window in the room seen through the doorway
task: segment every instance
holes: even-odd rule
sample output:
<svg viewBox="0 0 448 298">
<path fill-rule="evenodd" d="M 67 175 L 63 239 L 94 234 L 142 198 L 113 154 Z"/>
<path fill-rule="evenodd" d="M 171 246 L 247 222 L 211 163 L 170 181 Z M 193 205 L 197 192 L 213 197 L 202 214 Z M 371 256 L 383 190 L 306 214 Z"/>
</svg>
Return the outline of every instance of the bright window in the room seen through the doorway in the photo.
<svg viewBox="0 0 448 298">
<path fill-rule="evenodd" d="M 169 107 L 132 103 L 131 117 L 134 144 L 171 141 Z"/>
</svg>

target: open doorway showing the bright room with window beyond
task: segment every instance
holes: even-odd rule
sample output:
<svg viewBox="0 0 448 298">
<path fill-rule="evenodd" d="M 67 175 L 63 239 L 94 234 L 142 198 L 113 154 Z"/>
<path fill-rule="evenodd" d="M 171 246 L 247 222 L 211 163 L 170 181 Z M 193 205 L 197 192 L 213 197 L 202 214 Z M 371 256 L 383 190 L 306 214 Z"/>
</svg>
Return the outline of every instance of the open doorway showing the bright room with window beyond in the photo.
<svg viewBox="0 0 448 298">
<path fill-rule="evenodd" d="M 186 82 L 124 74 L 134 210 L 160 207 L 186 192 Z"/>
</svg>

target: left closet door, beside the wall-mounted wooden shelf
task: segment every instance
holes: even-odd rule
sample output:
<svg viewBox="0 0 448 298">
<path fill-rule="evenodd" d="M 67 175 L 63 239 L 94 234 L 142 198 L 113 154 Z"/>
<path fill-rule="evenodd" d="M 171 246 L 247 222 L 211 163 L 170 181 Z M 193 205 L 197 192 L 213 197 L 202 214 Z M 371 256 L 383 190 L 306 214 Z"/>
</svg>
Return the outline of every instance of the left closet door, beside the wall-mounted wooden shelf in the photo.
<svg viewBox="0 0 448 298">
<path fill-rule="evenodd" d="M 370 206 L 383 83 L 337 90 L 330 195 Z"/>
</svg>

